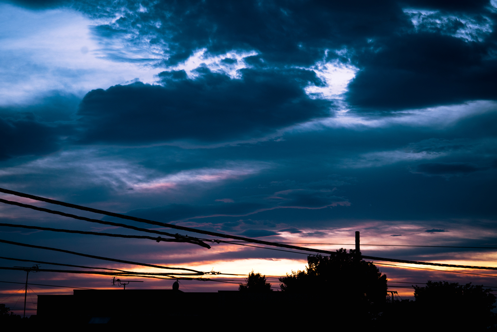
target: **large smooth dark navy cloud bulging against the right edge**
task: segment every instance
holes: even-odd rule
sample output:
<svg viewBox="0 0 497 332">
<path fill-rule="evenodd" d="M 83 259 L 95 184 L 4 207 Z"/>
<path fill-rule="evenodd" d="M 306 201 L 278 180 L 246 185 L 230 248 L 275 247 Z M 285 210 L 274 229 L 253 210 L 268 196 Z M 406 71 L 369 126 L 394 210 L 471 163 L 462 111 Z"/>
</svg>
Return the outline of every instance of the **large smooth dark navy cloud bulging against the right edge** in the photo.
<svg viewBox="0 0 497 332">
<path fill-rule="evenodd" d="M 497 99 L 497 59 L 488 45 L 434 33 L 393 38 L 366 52 L 350 83 L 358 109 L 390 111 Z"/>
</svg>

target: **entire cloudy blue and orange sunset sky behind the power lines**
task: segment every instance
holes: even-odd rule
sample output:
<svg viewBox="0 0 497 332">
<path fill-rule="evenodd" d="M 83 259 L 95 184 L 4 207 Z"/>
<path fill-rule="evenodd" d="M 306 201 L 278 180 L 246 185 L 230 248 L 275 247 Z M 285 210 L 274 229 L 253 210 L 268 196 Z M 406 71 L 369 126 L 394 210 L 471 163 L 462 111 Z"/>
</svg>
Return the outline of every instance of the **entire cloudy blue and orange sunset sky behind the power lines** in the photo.
<svg viewBox="0 0 497 332">
<path fill-rule="evenodd" d="M 0 0 L 0 187 L 267 241 L 350 244 L 358 230 L 365 255 L 495 266 L 493 250 L 365 244 L 497 246 L 496 19 L 496 0 Z M 0 216 L 136 234 L 13 206 L 1 205 Z M 236 274 L 282 276 L 307 261 L 230 244 L 12 227 L 0 227 L 0 238 Z M 0 250 L 153 271 L 8 244 Z M 1 260 L 22 264 L 30 266 Z M 390 281 L 496 285 L 495 277 L 378 267 Z M 0 276 L 25 281 L 22 271 Z M 112 287 L 108 276 L 29 278 Z M 0 300 L 19 298 L 21 286 L 1 284 Z M 180 288 L 237 284 L 191 280 Z"/>
</svg>

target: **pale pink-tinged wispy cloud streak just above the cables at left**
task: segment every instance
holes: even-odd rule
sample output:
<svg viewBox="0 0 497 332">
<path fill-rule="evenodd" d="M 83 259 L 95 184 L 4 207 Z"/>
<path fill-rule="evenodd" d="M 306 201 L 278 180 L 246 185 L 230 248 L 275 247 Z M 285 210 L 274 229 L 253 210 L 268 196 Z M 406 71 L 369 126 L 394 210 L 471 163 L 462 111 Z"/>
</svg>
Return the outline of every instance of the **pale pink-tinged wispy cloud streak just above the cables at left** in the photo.
<svg viewBox="0 0 497 332">
<path fill-rule="evenodd" d="M 34 161 L 0 170 L 0 182 L 12 177 L 56 175 L 65 186 L 103 186 L 122 191 L 161 191 L 183 185 L 214 184 L 256 174 L 271 167 L 264 162 L 229 162 L 207 167 L 167 173 L 138 163 L 105 155 L 105 151 L 83 148 L 63 151 Z M 82 181 L 78 179 L 84 179 Z M 50 181 L 50 180 L 47 180 Z"/>
</svg>

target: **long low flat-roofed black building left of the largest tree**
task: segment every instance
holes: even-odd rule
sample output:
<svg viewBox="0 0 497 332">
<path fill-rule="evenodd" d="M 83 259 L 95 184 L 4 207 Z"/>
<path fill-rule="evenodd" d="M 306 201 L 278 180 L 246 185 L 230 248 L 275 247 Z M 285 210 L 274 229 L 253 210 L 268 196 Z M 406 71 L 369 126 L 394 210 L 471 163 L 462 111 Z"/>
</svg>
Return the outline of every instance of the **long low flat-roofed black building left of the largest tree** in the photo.
<svg viewBox="0 0 497 332">
<path fill-rule="evenodd" d="M 326 305 L 330 299 L 318 294 L 286 292 L 217 293 L 180 290 L 74 290 L 74 295 L 38 295 L 37 318 L 41 324 L 85 325 L 165 324 L 171 327 L 204 325 L 214 322 L 264 324 L 267 311 L 276 311 L 278 320 L 302 317 L 306 311 Z M 282 322 L 283 323 L 283 322 Z"/>
</svg>

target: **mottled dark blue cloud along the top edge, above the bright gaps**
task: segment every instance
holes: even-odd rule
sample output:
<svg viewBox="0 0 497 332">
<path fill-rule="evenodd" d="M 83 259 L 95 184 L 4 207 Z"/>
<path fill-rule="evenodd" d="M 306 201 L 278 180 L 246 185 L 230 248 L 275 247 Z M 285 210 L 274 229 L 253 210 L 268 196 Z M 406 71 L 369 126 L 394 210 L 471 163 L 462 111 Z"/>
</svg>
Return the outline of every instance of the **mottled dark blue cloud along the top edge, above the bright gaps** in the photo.
<svg viewBox="0 0 497 332">
<path fill-rule="evenodd" d="M 367 38 L 408 25 L 393 1 L 122 1 L 129 11 L 98 3 L 80 8 L 96 17 L 122 15 L 105 34 L 111 29 L 151 36 L 151 44 L 167 44 L 168 64 L 207 48 L 213 54 L 256 50 L 271 63 L 311 65 L 327 48 L 365 45 Z"/>
</svg>

